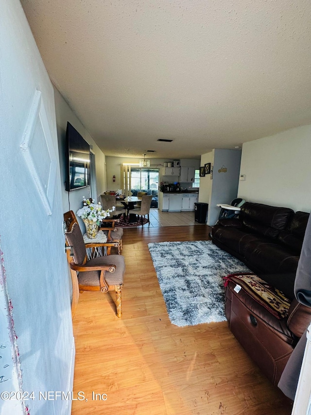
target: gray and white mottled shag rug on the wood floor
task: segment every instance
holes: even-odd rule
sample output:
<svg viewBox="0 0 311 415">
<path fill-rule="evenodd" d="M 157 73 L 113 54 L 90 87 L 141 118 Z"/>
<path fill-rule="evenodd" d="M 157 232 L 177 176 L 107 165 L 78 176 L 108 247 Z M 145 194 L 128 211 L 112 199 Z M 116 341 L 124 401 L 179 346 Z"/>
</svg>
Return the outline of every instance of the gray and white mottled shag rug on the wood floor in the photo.
<svg viewBox="0 0 311 415">
<path fill-rule="evenodd" d="M 169 318 L 174 325 L 225 321 L 223 277 L 251 272 L 211 241 L 148 244 Z"/>
</svg>

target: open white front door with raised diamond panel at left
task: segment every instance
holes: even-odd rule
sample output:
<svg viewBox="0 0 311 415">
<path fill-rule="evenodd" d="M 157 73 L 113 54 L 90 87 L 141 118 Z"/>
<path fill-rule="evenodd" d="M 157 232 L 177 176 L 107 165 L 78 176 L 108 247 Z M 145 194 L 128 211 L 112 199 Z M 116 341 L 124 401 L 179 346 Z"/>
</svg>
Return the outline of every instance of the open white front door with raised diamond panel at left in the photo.
<svg viewBox="0 0 311 415">
<path fill-rule="evenodd" d="M 0 1 L 0 16 L 0 312 L 12 336 L 0 342 L 14 351 L 0 389 L 33 392 L 0 413 L 69 414 L 69 401 L 39 399 L 71 390 L 74 355 L 53 87 L 19 1 Z"/>
</svg>

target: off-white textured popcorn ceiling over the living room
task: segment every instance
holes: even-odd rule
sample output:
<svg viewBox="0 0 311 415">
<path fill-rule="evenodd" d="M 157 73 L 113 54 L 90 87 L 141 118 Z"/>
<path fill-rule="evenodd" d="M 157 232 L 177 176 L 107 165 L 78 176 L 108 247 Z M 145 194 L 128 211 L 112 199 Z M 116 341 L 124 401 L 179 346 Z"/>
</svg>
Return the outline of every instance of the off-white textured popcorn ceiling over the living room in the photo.
<svg viewBox="0 0 311 415">
<path fill-rule="evenodd" d="M 311 123 L 310 0 L 21 4 L 53 83 L 108 156 L 199 158 Z"/>
</svg>

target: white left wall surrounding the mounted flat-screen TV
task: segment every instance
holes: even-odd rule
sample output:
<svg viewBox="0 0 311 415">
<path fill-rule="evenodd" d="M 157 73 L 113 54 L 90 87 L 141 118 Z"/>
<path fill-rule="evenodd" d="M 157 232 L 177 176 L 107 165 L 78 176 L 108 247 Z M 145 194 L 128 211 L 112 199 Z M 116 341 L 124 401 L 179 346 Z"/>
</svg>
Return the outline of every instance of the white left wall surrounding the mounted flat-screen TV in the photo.
<svg viewBox="0 0 311 415">
<path fill-rule="evenodd" d="M 82 135 L 88 144 L 93 145 L 91 150 L 95 154 L 96 163 L 96 184 L 97 184 L 97 195 L 100 195 L 105 190 L 105 155 L 94 142 L 85 126 L 80 122 L 77 116 L 73 113 L 63 96 L 54 87 L 55 95 L 55 111 L 56 111 L 56 125 L 57 125 L 57 137 L 58 137 L 58 150 L 59 150 L 59 162 L 60 172 L 62 180 L 62 198 L 63 198 L 63 211 L 67 212 L 70 210 L 76 212 L 82 207 L 82 197 L 90 196 L 89 187 L 84 189 L 77 189 L 71 192 L 65 190 L 65 179 L 66 179 L 66 128 L 67 122 L 69 123 Z M 69 193 L 69 195 L 68 195 Z M 84 224 L 79 220 L 80 226 L 84 229 Z"/>
</svg>

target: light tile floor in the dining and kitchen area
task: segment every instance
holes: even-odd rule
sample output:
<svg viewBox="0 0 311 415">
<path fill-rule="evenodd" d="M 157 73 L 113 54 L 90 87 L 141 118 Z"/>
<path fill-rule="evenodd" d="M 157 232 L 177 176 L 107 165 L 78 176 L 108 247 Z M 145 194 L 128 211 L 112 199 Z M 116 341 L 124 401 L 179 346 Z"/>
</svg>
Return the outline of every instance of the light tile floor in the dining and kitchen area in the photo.
<svg viewBox="0 0 311 415">
<path fill-rule="evenodd" d="M 150 209 L 150 227 L 158 228 L 161 226 L 189 226 L 206 225 L 194 221 L 194 211 L 192 212 L 161 212 L 158 209 Z"/>
</svg>

